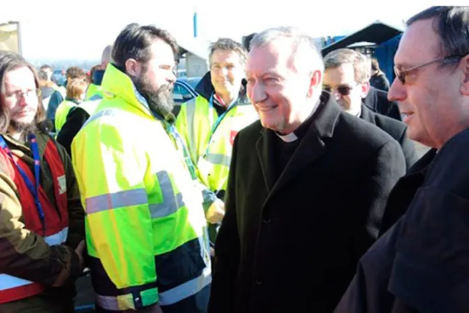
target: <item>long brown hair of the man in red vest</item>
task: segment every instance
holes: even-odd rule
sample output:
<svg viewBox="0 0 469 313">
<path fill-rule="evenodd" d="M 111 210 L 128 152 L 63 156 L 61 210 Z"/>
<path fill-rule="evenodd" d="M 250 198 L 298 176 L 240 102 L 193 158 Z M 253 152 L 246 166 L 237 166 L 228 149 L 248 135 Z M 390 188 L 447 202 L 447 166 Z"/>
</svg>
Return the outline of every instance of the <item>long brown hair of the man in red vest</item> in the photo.
<svg viewBox="0 0 469 313">
<path fill-rule="evenodd" d="M 27 67 L 31 70 L 34 75 L 34 82 L 36 84 L 36 88 L 39 88 L 39 79 L 38 74 L 34 66 L 29 64 L 26 59 L 20 56 L 15 52 L 9 51 L 0 51 L 0 95 L 5 94 L 5 76 L 10 71 L 15 71 L 18 68 Z M 0 134 L 5 134 L 8 130 L 8 126 L 10 126 L 10 111 L 8 108 L 5 108 L 5 104 L 3 103 L 2 96 L 0 96 Z M 45 110 L 43 107 L 43 101 L 38 96 L 38 111 L 36 112 L 36 117 L 34 118 L 34 122 L 40 131 L 47 132 L 52 127 L 50 127 L 50 123 L 45 119 Z"/>
</svg>

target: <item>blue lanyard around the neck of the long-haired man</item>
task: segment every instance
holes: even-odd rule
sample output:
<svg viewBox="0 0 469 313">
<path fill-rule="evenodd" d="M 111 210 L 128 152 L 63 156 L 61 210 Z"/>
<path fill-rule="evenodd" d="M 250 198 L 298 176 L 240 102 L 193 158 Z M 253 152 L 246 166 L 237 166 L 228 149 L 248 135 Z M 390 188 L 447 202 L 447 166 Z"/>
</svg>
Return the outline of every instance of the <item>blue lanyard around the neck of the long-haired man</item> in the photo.
<svg viewBox="0 0 469 313">
<path fill-rule="evenodd" d="M 34 177 L 36 179 L 36 186 L 33 182 L 31 182 L 31 180 L 29 180 L 29 177 L 24 172 L 24 170 L 20 166 L 18 166 L 18 163 L 13 158 L 13 154 L 8 148 L 8 145 L 6 145 L 6 142 L 5 142 L 5 139 L 3 139 L 3 136 L 0 136 L 0 147 L 1 149 L 3 149 L 3 151 L 5 151 L 8 154 L 8 157 L 10 157 L 13 163 L 15 163 L 15 166 L 20 172 L 24 180 L 24 183 L 26 183 L 26 186 L 28 187 L 29 192 L 31 192 L 31 195 L 34 198 L 34 202 L 36 203 L 36 209 L 38 210 L 40 221 L 43 224 L 43 229 L 45 229 L 43 206 L 40 204 L 40 201 L 39 201 L 40 159 L 39 159 L 38 141 L 36 139 L 36 136 L 34 136 L 33 134 L 29 135 L 28 139 L 29 139 L 29 142 L 31 143 L 31 150 L 33 150 Z"/>
</svg>

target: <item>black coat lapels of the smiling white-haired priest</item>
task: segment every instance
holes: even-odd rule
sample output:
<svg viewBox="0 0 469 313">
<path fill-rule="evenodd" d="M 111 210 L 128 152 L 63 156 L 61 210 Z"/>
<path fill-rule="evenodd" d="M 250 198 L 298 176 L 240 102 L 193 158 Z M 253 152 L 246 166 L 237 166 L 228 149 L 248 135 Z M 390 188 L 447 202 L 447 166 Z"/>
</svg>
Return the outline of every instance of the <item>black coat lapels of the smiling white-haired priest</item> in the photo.
<svg viewBox="0 0 469 313">
<path fill-rule="evenodd" d="M 256 150 L 264 175 L 265 184 L 270 194 L 281 189 L 285 184 L 294 179 L 301 170 L 313 163 L 316 159 L 325 154 L 326 145 L 323 139 L 331 138 L 337 119 L 341 115 L 341 108 L 332 99 L 329 93 L 323 92 L 318 108 L 316 108 L 311 120 L 311 125 L 295 150 L 287 166 L 278 180 L 275 180 L 275 151 L 276 134 L 269 129 L 260 131 L 260 138 L 256 143 Z"/>
</svg>

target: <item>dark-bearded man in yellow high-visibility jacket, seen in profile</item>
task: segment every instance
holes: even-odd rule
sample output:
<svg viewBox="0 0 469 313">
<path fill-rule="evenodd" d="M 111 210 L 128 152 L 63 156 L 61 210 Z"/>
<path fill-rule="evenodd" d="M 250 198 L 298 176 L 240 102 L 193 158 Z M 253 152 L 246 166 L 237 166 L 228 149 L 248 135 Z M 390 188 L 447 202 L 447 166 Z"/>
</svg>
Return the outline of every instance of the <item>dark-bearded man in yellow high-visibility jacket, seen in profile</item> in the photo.
<svg viewBox="0 0 469 313">
<path fill-rule="evenodd" d="M 128 25 L 113 45 L 106 96 L 73 139 L 98 312 L 207 311 L 216 196 L 174 128 L 177 55 L 168 31 Z"/>
</svg>

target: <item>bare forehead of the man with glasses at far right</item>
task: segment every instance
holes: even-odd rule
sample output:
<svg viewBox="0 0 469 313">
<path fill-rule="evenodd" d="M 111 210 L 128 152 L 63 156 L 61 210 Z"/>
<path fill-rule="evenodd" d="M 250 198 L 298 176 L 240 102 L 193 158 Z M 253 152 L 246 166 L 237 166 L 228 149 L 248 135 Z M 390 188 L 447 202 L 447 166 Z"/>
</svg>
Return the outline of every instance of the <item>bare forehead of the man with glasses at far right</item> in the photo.
<svg viewBox="0 0 469 313">
<path fill-rule="evenodd" d="M 441 57 L 440 38 L 433 30 L 433 19 L 420 20 L 405 29 L 399 48 L 394 56 L 394 64 L 409 68 Z"/>
</svg>

